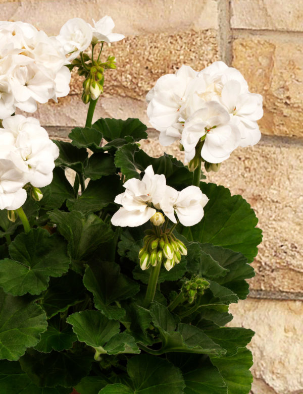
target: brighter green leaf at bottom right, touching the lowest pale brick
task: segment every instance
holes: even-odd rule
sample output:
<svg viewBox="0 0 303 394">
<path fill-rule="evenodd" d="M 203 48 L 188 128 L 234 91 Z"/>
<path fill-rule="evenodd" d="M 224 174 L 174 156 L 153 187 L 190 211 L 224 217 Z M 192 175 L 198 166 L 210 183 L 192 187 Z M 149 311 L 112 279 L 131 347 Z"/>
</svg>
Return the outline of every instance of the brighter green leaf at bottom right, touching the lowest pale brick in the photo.
<svg viewBox="0 0 303 394">
<path fill-rule="evenodd" d="M 251 388 L 252 375 L 249 368 L 252 366 L 251 352 L 242 348 L 231 357 L 211 356 L 212 363 L 219 369 L 228 394 L 248 394 Z"/>
</svg>

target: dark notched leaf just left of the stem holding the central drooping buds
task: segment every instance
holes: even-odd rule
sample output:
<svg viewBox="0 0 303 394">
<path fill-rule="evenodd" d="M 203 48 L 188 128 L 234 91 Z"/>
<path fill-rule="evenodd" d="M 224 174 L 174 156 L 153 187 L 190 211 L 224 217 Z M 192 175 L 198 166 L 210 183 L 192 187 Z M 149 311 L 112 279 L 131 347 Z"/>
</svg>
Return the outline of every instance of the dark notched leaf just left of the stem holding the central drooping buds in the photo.
<svg viewBox="0 0 303 394">
<path fill-rule="evenodd" d="M 139 291 L 139 285 L 120 273 L 114 262 L 93 261 L 85 270 L 83 283 L 94 296 L 95 307 L 110 319 L 120 319 L 125 310 L 116 301 L 126 300 Z"/>
</svg>

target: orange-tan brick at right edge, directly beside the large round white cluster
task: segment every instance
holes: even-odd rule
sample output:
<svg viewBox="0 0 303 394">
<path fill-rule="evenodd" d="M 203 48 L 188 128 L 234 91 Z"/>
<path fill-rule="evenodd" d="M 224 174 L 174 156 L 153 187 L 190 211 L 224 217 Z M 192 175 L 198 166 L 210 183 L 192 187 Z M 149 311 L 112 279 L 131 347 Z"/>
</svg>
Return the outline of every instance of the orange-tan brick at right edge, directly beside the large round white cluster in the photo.
<svg viewBox="0 0 303 394">
<path fill-rule="evenodd" d="M 264 134 L 302 136 L 303 40 L 250 36 L 233 42 L 233 66 L 264 99 Z"/>
</svg>

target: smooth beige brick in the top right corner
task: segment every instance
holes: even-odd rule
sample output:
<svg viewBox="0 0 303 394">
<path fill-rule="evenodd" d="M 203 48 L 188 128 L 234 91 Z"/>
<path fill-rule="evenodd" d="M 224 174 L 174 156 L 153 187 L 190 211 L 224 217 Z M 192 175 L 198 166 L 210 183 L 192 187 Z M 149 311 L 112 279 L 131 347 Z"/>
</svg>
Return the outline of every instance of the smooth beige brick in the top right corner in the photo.
<svg viewBox="0 0 303 394">
<path fill-rule="evenodd" d="M 231 27 L 235 29 L 302 31 L 300 0 L 231 0 Z"/>
</svg>

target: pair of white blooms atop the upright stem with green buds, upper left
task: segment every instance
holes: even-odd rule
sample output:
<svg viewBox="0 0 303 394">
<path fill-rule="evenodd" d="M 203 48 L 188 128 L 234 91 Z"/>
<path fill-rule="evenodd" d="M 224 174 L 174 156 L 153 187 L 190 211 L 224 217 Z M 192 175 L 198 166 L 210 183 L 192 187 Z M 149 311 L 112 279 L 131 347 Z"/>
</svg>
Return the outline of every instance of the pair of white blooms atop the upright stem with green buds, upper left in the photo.
<svg viewBox="0 0 303 394">
<path fill-rule="evenodd" d="M 69 54 L 68 60 L 76 59 L 91 42 L 111 43 L 125 38 L 123 34 L 112 33 L 115 23 L 111 17 L 105 16 L 98 22 L 92 21 L 93 26 L 81 18 L 73 18 L 62 26 L 57 39 L 61 42 L 65 54 Z"/>
</svg>

